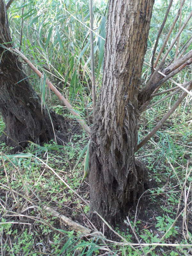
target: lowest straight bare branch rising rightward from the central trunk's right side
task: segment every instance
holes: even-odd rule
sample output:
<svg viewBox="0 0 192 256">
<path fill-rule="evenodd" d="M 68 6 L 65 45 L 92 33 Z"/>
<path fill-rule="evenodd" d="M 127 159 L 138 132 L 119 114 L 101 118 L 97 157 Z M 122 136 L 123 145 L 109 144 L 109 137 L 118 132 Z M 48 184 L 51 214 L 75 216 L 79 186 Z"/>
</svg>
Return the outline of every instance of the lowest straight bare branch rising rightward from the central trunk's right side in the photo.
<svg viewBox="0 0 192 256">
<path fill-rule="evenodd" d="M 192 81 L 189 82 L 189 86 L 187 88 L 188 91 L 192 89 Z M 170 110 L 167 112 L 167 114 L 159 121 L 159 123 L 153 128 L 151 132 L 148 133 L 148 135 L 137 145 L 136 151 L 139 150 L 144 144 L 148 142 L 148 140 L 153 137 L 153 135 L 161 128 L 161 126 L 164 124 L 164 122 L 171 116 L 171 114 L 175 111 L 175 109 L 180 105 L 180 103 L 185 99 L 187 96 L 187 92 L 183 92 L 179 99 L 175 102 L 175 104 L 170 108 Z"/>
</svg>

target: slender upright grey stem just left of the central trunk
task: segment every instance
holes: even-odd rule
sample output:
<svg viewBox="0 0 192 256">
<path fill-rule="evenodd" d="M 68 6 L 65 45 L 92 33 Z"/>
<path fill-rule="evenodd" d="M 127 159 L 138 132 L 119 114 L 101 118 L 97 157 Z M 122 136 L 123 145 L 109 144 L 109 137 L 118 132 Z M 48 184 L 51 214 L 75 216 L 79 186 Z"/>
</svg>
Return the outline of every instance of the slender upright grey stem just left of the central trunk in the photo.
<svg viewBox="0 0 192 256">
<path fill-rule="evenodd" d="M 90 12 L 90 46 L 91 46 L 91 76 L 92 76 L 92 105 L 95 108 L 95 63 L 94 63 L 94 45 L 93 45 L 93 3 L 89 0 Z"/>
</svg>

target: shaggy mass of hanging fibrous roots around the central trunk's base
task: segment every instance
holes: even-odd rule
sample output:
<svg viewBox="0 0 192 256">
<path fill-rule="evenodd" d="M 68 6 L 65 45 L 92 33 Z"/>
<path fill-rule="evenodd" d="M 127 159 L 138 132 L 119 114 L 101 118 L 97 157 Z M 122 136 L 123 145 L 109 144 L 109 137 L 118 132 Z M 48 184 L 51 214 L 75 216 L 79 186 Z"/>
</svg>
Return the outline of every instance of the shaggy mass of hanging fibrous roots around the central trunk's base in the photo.
<svg viewBox="0 0 192 256">
<path fill-rule="evenodd" d="M 148 171 L 134 157 L 138 113 L 126 109 L 123 131 L 110 117 L 105 129 L 102 111 L 95 113 L 90 144 L 90 210 L 112 225 L 124 217 L 144 192 Z"/>
</svg>

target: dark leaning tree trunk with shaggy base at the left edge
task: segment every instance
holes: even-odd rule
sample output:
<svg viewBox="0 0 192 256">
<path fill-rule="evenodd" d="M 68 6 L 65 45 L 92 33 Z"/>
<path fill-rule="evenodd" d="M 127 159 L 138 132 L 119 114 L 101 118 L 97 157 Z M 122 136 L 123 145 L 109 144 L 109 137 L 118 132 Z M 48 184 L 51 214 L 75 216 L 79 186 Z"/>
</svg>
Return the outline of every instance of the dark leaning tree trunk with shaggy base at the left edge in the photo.
<svg viewBox="0 0 192 256">
<path fill-rule="evenodd" d="M 62 117 L 54 112 L 41 111 L 41 102 L 29 84 L 21 63 L 6 47 L 12 47 L 6 7 L 0 0 L 0 113 L 5 122 L 6 136 L 1 140 L 13 147 L 13 151 L 27 145 L 54 138 L 54 129 L 62 126 Z"/>
</svg>

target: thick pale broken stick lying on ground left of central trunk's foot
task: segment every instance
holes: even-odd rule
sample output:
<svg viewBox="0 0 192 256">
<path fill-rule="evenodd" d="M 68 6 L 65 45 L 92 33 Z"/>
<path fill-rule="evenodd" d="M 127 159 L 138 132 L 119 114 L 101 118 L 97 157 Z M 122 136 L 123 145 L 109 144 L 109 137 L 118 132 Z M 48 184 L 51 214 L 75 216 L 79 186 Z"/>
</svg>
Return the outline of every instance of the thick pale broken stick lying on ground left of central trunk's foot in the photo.
<svg viewBox="0 0 192 256">
<path fill-rule="evenodd" d="M 63 214 L 60 214 L 59 212 L 55 211 L 51 207 L 45 206 L 44 210 L 46 210 L 47 212 L 50 212 L 52 216 L 57 217 L 65 225 L 67 225 L 70 229 L 73 229 L 77 232 L 79 231 L 84 234 L 90 234 L 92 232 L 92 230 L 90 228 L 86 228 L 86 227 L 82 226 L 81 224 L 79 224 L 73 220 L 70 220 L 68 217 L 66 217 Z"/>
</svg>

